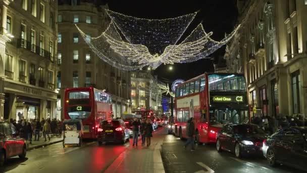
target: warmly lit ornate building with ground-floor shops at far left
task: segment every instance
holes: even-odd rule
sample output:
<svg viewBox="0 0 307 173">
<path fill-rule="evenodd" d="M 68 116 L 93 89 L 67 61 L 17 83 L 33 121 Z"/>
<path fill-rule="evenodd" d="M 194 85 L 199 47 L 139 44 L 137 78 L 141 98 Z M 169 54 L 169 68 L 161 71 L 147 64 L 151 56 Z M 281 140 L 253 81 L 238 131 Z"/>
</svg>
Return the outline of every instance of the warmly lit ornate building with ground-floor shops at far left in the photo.
<svg viewBox="0 0 307 173">
<path fill-rule="evenodd" d="M 0 1 L 0 117 L 56 116 L 57 1 Z"/>
</svg>

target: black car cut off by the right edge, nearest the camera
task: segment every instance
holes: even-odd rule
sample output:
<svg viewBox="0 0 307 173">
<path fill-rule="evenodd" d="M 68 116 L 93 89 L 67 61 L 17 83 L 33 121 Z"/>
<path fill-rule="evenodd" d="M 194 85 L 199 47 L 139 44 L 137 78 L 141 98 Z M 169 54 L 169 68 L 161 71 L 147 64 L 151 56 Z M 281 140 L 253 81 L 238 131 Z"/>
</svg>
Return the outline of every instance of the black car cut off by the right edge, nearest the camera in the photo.
<svg viewBox="0 0 307 173">
<path fill-rule="evenodd" d="M 307 170 L 307 127 L 286 127 L 264 141 L 264 156 L 271 166 L 283 163 Z"/>
</svg>

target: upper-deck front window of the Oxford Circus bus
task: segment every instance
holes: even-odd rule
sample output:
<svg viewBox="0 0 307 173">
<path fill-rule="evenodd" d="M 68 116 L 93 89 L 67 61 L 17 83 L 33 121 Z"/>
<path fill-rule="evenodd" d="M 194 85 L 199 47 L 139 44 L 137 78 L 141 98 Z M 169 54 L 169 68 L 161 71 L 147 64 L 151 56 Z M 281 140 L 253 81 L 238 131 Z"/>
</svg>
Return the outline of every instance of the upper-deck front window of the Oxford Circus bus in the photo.
<svg viewBox="0 0 307 173">
<path fill-rule="evenodd" d="M 246 91 L 244 76 L 238 74 L 210 74 L 209 91 Z"/>
</svg>

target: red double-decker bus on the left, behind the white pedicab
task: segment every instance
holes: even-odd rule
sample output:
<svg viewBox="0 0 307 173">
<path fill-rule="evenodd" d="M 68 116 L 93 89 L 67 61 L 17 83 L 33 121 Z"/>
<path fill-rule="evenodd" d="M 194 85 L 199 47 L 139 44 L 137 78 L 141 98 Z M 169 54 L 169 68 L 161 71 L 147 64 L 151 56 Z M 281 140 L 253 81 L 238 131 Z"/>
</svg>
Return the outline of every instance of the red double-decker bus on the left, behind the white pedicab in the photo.
<svg viewBox="0 0 307 173">
<path fill-rule="evenodd" d="M 99 123 L 113 114 L 111 96 L 92 87 L 66 89 L 64 101 L 64 118 L 82 119 L 85 139 L 96 139 Z"/>
</svg>

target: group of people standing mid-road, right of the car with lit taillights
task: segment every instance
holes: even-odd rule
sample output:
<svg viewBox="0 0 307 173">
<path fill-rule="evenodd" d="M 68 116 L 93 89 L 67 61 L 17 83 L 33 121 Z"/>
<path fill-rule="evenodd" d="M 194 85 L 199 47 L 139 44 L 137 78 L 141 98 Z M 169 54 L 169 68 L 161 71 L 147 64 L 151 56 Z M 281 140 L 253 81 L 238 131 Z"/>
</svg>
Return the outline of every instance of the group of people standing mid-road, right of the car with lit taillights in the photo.
<svg viewBox="0 0 307 173">
<path fill-rule="evenodd" d="M 134 118 L 131 125 L 133 131 L 133 146 L 137 146 L 139 134 L 141 135 L 142 146 L 145 146 L 145 141 L 146 146 L 150 146 L 152 131 L 154 131 L 150 119 L 143 118 L 141 121 L 139 121 L 137 118 Z"/>
</svg>

